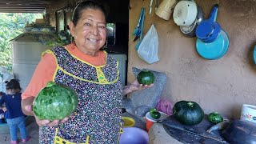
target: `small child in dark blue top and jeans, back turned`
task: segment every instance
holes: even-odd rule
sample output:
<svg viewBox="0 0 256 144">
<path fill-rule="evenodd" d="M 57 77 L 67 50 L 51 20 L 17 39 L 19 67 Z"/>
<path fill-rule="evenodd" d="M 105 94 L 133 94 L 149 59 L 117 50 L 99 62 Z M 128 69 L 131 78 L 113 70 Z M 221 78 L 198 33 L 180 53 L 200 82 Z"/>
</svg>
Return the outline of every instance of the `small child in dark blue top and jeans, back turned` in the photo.
<svg viewBox="0 0 256 144">
<path fill-rule="evenodd" d="M 19 82 L 15 79 L 11 79 L 10 82 L 6 82 L 7 94 L 0 99 L 0 106 L 5 103 L 7 108 L 6 120 L 10 127 L 11 144 L 18 144 L 17 129 L 20 131 L 22 143 L 30 140 L 26 132 L 25 115 L 22 112 L 21 90 Z"/>
</svg>

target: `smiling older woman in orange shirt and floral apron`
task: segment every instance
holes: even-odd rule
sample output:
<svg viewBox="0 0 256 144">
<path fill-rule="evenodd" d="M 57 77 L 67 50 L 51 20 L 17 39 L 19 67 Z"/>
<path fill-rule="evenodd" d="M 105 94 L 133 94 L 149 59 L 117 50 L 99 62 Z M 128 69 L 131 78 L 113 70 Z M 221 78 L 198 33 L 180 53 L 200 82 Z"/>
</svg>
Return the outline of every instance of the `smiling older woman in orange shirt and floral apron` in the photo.
<svg viewBox="0 0 256 144">
<path fill-rule="evenodd" d="M 142 86 L 135 80 L 130 86 L 122 86 L 118 62 L 100 50 L 106 43 L 103 6 L 94 1 L 78 4 L 69 26 L 74 42 L 46 50 L 22 94 L 22 110 L 34 115 L 32 103 L 47 82 L 65 84 L 78 94 L 77 110 L 62 120 L 36 118 L 39 142 L 118 143 L 122 96 L 153 85 Z"/>
</svg>

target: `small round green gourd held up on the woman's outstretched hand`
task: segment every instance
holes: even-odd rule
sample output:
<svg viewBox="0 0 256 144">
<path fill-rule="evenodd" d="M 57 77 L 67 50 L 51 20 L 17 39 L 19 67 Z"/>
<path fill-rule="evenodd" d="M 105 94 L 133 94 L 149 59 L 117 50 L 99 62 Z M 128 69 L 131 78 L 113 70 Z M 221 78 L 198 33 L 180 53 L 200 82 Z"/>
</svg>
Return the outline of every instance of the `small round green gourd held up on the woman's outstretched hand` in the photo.
<svg viewBox="0 0 256 144">
<path fill-rule="evenodd" d="M 154 83 L 154 74 L 150 70 L 142 70 L 138 73 L 137 80 L 142 85 L 150 85 Z"/>
</svg>

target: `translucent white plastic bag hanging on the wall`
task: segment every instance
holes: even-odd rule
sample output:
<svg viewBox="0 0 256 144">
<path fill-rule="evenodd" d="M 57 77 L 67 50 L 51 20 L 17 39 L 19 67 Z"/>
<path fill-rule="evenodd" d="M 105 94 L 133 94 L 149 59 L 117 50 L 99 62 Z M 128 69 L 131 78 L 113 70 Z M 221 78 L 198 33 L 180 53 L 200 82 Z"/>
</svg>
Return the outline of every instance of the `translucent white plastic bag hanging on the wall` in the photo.
<svg viewBox="0 0 256 144">
<path fill-rule="evenodd" d="M 150 27 L 150 30 L 146 33 L 142 39 L 142 43 L 138 47 L 138 56 L 145 62 L 152 64 L 158 62 L 158 33 L 155 30 L 154 25 Z"/>
</svg>

